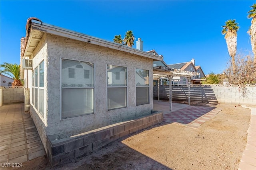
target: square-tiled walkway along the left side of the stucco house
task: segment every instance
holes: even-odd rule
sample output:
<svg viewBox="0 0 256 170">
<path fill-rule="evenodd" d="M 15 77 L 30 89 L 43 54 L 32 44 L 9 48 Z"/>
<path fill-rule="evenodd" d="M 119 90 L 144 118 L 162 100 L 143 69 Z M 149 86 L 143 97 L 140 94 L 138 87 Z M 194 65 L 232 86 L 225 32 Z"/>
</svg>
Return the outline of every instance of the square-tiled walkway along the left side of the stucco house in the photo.
<svg viewBox="0 0 256 170">
<path fill-rule="evenodd" d="M 0 107 L 0 162 L 23 163 L 44 156 L 40 137 L 24 104 Z"/>
</svg>

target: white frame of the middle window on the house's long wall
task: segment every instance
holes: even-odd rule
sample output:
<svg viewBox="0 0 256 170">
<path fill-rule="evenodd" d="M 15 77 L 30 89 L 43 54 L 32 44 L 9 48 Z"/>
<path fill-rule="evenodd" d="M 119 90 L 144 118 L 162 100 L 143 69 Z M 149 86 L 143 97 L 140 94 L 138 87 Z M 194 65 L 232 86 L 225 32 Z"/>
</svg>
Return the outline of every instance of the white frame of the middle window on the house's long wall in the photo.
<svg viewBox="0 0 256 170">
<path fill-rule="evenodd" d="M 126 68 L 126 76 L 125 76 L 126 86 L 108 86 L 108 65 L 118 66 L 118 67 L 125 67 Z M 128 74 L 128 67 L 127 66 L 115 65 L 115 64 L 106 64 L 106 109 L 107 109 L 107 111 L 112 111 L 112 110 L 116 110 L 116 109 L 123 109 L 123 108 L 128 107 L 128 79 L 127 79 L 128 76 L 127 76 L 127 74 Z M 115 78 L 116 78 L 116 76 L 115 76 Z M 120 74 L 119 74 L 119 80 L 120 80 Z M 118 107 L 118 108 L 114 108 L 114 109 L 108 109 L 108 88 L 126 88 L 126 96 L 125 96 L 126 97 L 125 98 L 126 106 L 125 107 Z"/>
</svg>

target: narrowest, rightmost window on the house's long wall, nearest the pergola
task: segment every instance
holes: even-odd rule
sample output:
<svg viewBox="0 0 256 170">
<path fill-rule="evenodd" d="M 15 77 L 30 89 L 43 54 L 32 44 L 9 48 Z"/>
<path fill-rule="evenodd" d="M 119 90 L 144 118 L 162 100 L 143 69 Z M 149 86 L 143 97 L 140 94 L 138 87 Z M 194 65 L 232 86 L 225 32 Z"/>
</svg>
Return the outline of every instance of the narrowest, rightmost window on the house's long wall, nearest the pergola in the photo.
<svg viewBox="0 0 256 170">
<path fill-rule="evenodd" d="M 149 104 L 149 71 L 136 69 L 136 105 Z"/>
</svg>

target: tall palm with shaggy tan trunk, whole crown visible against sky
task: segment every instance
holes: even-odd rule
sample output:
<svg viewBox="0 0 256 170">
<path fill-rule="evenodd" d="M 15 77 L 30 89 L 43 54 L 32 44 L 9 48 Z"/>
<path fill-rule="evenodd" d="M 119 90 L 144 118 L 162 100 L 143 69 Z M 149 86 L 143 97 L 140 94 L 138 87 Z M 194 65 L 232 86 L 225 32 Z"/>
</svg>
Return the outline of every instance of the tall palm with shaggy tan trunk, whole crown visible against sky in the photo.
<svg viewBox="0 0 256 170">
<path fill-rule="evenodd" d="M 235 55 L 236 55 L 236 38 L 237 31 L 239 29 L 238 23 L 236 20 L 228 20 L 225 22 L 226 25 L 222 26 L 222 35 L 225 35 L 226 43 L 228 45 L 228 53 L 232 58 L 232 66 L 233 66 L 233 74 L 236 72 L 236 63 L 235 63 Z"/>
</svg>

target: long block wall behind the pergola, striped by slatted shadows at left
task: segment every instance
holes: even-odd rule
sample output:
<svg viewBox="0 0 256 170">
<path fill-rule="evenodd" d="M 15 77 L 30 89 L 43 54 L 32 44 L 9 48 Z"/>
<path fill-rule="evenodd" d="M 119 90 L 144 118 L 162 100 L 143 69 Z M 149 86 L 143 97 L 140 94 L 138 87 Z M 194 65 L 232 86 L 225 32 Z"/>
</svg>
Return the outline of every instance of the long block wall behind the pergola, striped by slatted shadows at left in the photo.
<svg viewBox="0 0 256 170">
<path fill-rule="evenodd" d="M 191 102 L 256 105 L 256 86 L 246 86 L 242 93 L 239 86 L 191 86 Z M 154 99 L 157 99 L 157 86 L 154 86 Z M 160 86 L 160 100 L 169 100 L 169 86 Z M 172 86 L 173 101 L 188 101 L 187 86 Z"/>
</svg>

